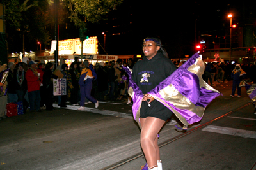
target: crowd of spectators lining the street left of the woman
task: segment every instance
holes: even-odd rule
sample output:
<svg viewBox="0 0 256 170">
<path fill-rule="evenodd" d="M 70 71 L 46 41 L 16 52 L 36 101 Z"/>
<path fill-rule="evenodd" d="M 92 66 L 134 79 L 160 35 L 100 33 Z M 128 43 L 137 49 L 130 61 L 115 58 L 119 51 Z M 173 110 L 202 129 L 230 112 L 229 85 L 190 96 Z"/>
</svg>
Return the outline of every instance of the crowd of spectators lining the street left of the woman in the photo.
<svg viewBox="0 0 256 170">
<path fill-rule="evenodd" d="M 58 103 L 61 108 L 67 107 L 67 104 L 73 106 L 82 106 L 81 86 L 79 79 L 84 68 L 90 69 L 92 72 L 92 90 L 90 96 L 97 101 L 126 101 L 128 76 L 122 69 L 122 66 L 134 66 L 132 59 L 128 63 L 123 63 L 122 59 L 109 62 L 100 62 L 95 66 L 88 62 L 79 62 L 78 58 L 72 62 L 70 67 L 65 63 L 65 59 L 60 59 L 60 65 L 56 67 L 63 74 L 63 78 L 67 79 L 67 95 L 53 96 L 53 81 L 58 79 L 54 74 L 54 64 L 48 62 L 38 63 L 34 60 L 24 57 L 22 62 L 17 64 L 8 63 L 8 103 L 22 101 L 24 112 L 41 112 L 42 109 L 54 110 L 52 103 Z M 82 73 L 83 74 L 83 73 Z M 84 89 L 83 89 L 84 92 Z M 92 103 L 86 95 L 84 104 Z M 82 94 L 84 97 L 84 94 Z M 91 99 L 92 100 L 92 99 Z M 131 103 L 131 98 L 129 98 Z"/>
</svg>

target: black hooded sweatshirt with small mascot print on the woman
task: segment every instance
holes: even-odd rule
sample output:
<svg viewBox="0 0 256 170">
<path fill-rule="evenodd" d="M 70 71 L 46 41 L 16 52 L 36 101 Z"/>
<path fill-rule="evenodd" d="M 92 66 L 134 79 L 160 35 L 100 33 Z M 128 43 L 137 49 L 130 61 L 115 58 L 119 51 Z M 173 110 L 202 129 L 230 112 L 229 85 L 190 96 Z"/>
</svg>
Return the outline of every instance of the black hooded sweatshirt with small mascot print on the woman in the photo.
<svg viewBox="0 0 256 170">
<path fill-rule="evenodd" d="M 143 57 L 143 60 L 136 62 L 132 69 L 132 80 L 138 85 L 143 94 L 147 94 L 176 69 L 177 67 L 175 67 L 172 60 L 164 57 L 163 53 L 157 52 L 150 60 Z"/>
</svg>

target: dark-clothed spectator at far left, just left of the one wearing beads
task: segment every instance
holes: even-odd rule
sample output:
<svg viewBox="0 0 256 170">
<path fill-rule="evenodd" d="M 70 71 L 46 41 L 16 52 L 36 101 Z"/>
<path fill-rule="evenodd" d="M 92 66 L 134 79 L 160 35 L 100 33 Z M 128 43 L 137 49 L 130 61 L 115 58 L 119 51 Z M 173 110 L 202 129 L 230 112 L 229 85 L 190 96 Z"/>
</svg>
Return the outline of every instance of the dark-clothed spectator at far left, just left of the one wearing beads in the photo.
<svg viewBox="0 0 256 170">
<path fill-rule="evenodd" d="M 9 62 L 8 64 L 9 67 L 9 73 L 7 77 L 8 81 L 8 103 L 10 102 L 17 102 L 18 96 L 16 94 L 16 87 L 15 87 L 15 74 L 16 74 L 16 69 L 15 69 L 15 64 L 14 62 Z"/>
</svg>

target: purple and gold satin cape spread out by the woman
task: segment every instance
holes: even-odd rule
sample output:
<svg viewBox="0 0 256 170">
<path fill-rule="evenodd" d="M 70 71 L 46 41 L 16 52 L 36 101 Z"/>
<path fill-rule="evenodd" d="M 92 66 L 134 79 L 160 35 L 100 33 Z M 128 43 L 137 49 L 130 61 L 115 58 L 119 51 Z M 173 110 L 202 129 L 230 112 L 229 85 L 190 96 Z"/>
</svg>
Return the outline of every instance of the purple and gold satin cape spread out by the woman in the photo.
<svg viewBox="0 0 256 170">
<path fill-rule="evenodd" d="M 177 113 L 184 117 L 189 124 L 200 121 L 202 117 L 196 115 L 196 113 L 193 113 L 193 111 L 177 108 L 172 104 L 172 99 L 166 101 L 161 96 L 159 91 L 164 89 L 168 85 L 173 85 L 175 89 L 177 89 L 184 97 L 189 99 L 191 103 L 195 104 L 195 106 L 200 106 L 203 108 L 205 108 L 215 97 L 220 96 L 220 93 L 216 91 L 207 90 L 204 87 L 200 87 L 200 80 L 198 78 L 198 75 L 188 71 L 188 68 L 195 64 L 198 57 L 198 53 L 193 55 L 187 62 L 180 66 L 179 69 L 177 69 L 170 76 L 168 76 L 168 78 L 159 83 L 159 85 L 157 85 L 154 89 L 150 90 L 150 92 L 148 92 L 148 94 L 158 97 L 158 101 L 164 104 L 164 106 L 177 111 Z M 134 83 L 134 81 L 132 80 L 131 71 L 126 67 L 124 67 L 124 69 L 129 75 L 128 87 L 132 87 L 133 89 L 133 94 L 131 96 L 133 100 L 132 112 L 135 119 L 136 114 L 138 113 L 138 109 L 140 108 L 143 94 L 139 89 L 138 85 L 136 85 L 136 83 Z"/>
</svg>

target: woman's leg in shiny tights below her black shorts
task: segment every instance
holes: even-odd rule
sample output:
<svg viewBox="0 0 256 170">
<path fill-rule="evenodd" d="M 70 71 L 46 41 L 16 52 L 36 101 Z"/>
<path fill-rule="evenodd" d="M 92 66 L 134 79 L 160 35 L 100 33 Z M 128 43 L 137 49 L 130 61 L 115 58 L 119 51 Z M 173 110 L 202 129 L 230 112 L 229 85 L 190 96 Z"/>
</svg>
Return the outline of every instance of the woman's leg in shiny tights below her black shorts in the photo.
<svg viewBox="0 0 256 170">
<path fill-rule="evenodd" d="M 165 121 L 155 117 L 140 118 L 141 122 L 141 148 L 147 160 L 148 167 L 157 165 L 160 160 L 157 134 Z"/>
</svg>

